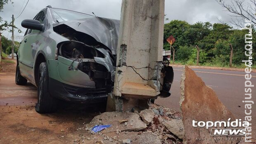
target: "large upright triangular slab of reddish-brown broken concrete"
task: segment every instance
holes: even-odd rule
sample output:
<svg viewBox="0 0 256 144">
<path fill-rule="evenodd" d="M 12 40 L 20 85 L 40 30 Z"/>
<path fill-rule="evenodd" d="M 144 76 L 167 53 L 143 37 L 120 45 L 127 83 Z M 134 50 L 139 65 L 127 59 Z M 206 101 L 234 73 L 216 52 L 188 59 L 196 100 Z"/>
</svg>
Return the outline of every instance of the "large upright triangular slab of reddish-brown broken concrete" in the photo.
<svg viewBox="0 0 256 144">
<path fill-rule="evenodd" d="M 204 144 L 205 141 L 199 138 L 207 139 L 207 143 L 216 143 L 215 139 L 223 137 L 210 136 L 211 128 L 193 127 L 192 120 L 195 121 L 228 121 L 235 118 L 233 114 L 220 102 L 216 93 L 205 85 L 192 69 L 185 66 L 181 77 L 181 99 L 180 107 L 183 114 L 183 123 L 185 128 L 185 137 L 183 143 Z M 221 128 L 221 127 L 218 127 Z M 235 144 L 239 137 L 225 137 L 233 140 L 219 140 L 218 144 Z"/>
</svg>

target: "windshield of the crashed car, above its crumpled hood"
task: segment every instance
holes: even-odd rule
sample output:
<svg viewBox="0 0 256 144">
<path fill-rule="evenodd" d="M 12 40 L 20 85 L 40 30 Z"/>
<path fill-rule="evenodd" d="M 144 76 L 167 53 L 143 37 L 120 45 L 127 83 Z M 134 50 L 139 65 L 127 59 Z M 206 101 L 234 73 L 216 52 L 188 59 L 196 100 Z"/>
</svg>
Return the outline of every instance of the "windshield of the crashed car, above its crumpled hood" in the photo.
<svg viewBox="0 0 256 144">
<path fill-rule="evenodd" d="M 70 21 L 74 19 L 84 19 L 94 17 L 90 14 L 84 14 L 81 12 L 75 12 L 66 9 L 51 8 L 53 19 L 59 23 L 62 21 Z"/>
</svg>

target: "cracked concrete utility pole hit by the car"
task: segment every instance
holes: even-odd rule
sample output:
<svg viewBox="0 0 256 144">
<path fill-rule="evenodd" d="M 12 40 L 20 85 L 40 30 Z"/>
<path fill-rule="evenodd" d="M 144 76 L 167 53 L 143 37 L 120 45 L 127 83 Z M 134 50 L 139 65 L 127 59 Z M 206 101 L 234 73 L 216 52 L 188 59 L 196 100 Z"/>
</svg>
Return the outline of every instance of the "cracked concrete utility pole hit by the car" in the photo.
<svg viewBox="0 0 256 144">
<path fill-rule="evenodd" d="M 123 0 L 114 92 L 107 110 L 147 107 L 160 92 L 164 0 Z M 109 109 L 112 108 L 112 109 Z"/>
</svg>

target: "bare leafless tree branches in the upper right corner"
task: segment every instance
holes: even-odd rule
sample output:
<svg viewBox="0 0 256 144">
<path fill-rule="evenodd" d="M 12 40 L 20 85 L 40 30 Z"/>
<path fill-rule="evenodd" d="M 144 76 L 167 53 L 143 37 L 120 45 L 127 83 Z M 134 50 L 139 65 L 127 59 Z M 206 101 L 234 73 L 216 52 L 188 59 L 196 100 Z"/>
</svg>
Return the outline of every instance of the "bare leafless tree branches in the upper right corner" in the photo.
<svg viewBox="0 0 256 144">
<path fill-rule="evenodd" d="M 231 16 L 235 18 L 231 21 L 233 25 L 244 28 L 244 19 L 251 20 L 251 22 L 256 25 L 255 0 L 249 0 L 247 3 L 244 0 L 230 0 L 230 4 L 224 2 L 224 0 L 216 0 L 216 2 L 230 12 Z"/>
</svg>

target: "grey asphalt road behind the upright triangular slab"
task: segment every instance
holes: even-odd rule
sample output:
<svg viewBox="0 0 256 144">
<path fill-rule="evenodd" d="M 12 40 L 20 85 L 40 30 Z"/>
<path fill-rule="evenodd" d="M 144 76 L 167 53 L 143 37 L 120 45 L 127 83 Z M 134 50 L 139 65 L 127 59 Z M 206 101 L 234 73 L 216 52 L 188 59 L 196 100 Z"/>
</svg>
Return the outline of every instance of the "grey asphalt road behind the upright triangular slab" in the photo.
<svg viewBox="0 0 256 144">
<path fill-rule="evenodd" d="M 156 99 L 156 104 L 161 104 L 168 108 L 180 111 L 179 101 L 180 101 L 180 77 L 182 74 L 182 67 L 173 67 L 174 70 L 174 80 L 171 86 L 171 97 L 168 98 L 158 98 Z M 193 69 L 197 76 L 204 80 L 204 83 L 211 87 L 220 101 L 236 116 L 236 118 L 241 118 L 244 120 L 244 104 L 242 101 L 245 97 L 244 92 L 244 82 L 246 81 L 243 71 L 223 71 L 223 70 L 211 70 L 211 69 Z M 251 78 L 252 85 L 252 101 L 256 102 L 256 73 L 251 73 L 253 76 Z M 252 125 L 256 125 L 256 106 L 252 105 Z M 249 111 L 248 111 L 249 112 Z M 254 129 L 255 130 L 255 129 Z"/>
</svg>

